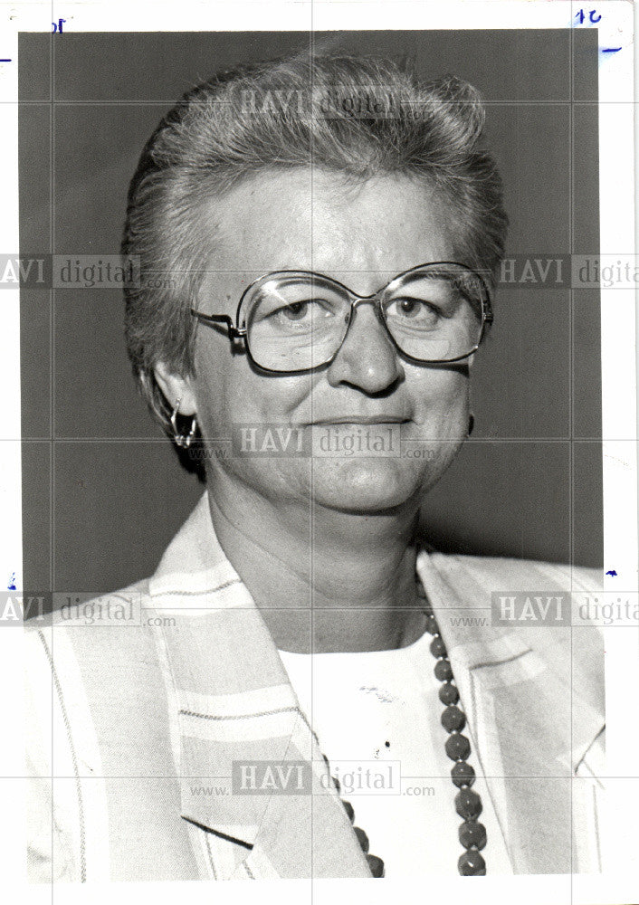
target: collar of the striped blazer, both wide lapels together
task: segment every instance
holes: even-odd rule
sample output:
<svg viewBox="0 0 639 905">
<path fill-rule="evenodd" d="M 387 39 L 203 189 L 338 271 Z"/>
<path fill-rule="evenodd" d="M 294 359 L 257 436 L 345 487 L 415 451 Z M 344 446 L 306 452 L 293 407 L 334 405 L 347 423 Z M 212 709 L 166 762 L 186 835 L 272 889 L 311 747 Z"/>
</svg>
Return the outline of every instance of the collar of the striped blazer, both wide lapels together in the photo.
<svg viewBox="0 0 639 905">
<path fill-rule="evenodd" d="M 539 638 L 529 629 L 493 628 L 490 619 L 482 624 L 490 588 L 499 587 L 498 570 L 478 580 L 465 557 L 426 552 L 417 567 L 449 651 L 475 755 L 481 752 L 492 777 L 489 789 L 515 870 L 564 872 L 570 777 L 602 728 L 588 700 L 578 691 L 570 699 L 570 688 L 579 685 L 575 674 L 566 674 L 567 663 L 551 657 L 548 667 L 551 636 L 565 630 L 546 629 Z M 186 777 L 182 816 L 243 843 L 247 855 L 252 848 L 253 865 L 265 863 L 267 875 L 369 876 L 334 790 L 317 789 L 312 807 L 309 795 L 234 794 L 234 763 L 237 770 L 241 761 L 315 762 L 317 778 L 322 756 L 262 615 L 215 537 L 206 493 L 167 548 L 149 594 L 152 606 L 176 616 L 174 626 L 159 632 L 176 688 Z M 477 624 L 456 618 L 469 609 L 482 614 Z M 559 776 L 565 782 L 550 781 Z M 227 793 L 197 794 L 197 786 Z M 532 844 L 531 826 L 543 827 Z"/>
</svg>

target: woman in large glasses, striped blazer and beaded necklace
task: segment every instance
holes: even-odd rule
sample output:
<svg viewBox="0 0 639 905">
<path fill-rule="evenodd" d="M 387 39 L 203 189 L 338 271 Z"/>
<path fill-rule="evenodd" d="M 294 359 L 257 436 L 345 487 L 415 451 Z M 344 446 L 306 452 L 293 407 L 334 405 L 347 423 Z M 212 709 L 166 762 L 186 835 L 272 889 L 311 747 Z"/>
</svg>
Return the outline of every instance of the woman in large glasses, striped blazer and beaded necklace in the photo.
<svg viewBox="0 0 639 905">
<path fill-rule="evenodd" d="M 138 627 L 29 633 L 36 879 L 600 870 L 598 635 L 486 618 L 595 574 L 416 534 L 503 252 L 482 121 L 463 82 L 327 55 L 224 73 L 149 139 L 129 355 L 206 491 L 113 595 Z"/>
</svg>

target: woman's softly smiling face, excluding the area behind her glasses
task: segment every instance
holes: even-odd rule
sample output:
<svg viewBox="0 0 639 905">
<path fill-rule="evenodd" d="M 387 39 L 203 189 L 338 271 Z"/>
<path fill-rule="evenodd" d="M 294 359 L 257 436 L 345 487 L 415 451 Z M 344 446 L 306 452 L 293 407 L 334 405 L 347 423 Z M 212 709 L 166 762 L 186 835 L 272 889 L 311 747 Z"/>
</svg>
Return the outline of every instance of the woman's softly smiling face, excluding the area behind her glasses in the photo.
<svg viewBox="0 0 639 905">
<path fill-rule="evenodd" d="M 454 260 L 445 205 L 405 176 L 346 186 L 317 171 L 264 174 L 207 217 L 216 250 L 196 306 L 233 319 L 269 271 L 319 271 L 370 295 L 416 264 Z M 443 474 L 466 434 L 468 381 L 467 362 L 402 359 L 363 305 L 332 363 L 295 376 L 261 373 L 200 325 L 188 396 L 209 447 L 234 441 L 233 458 L 207 460 L 214 481 L 223 471 L 280 505 L 366 513 L 418 500 Z M 315 454 L 300 455 L 310 443 Z"/>
</svg>

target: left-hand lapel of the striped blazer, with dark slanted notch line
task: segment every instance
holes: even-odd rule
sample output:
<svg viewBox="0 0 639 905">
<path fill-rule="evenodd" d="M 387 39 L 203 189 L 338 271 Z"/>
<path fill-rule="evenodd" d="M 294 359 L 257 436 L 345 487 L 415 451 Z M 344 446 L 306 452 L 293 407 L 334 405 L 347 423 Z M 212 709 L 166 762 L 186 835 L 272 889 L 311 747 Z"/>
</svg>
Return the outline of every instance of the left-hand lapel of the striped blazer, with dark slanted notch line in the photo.
<svg viewBox="0 0 639 905">
<path fill-rule="evenodd" d="M 320 782 L 320 750 L 262 615 L 215 538 L 206 495 L 149 593 L 173 616 L 158 632 L 176 689 L 182 816 L 243 843 L 244 875 L 370 877 L 339 796 Z M 304 793 L 282 794 L 273 776 L 303 776 Z"/>
</svg>

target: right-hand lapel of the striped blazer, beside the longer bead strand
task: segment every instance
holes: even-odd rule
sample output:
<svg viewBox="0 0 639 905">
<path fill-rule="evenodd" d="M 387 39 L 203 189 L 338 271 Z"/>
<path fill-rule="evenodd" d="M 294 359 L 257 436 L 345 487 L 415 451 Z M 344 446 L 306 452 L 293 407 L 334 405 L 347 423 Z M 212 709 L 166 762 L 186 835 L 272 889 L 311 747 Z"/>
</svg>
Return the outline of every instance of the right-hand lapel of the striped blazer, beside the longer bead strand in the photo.
<svg viewBox="0 0 639 905">
<path fill-rule="evenodd" d="M 534 572 L 535 564 L 527 567 Z M 481 752 L 513 870 L 575 872 L 574 776 L 603 719 L 580 694 L 586 683 L 577 656 L 567 653 L 571 629 L 491 626 L 491 590 L 504 590 L 503 560 L 482 560 L 478 576 L 476 560 L 470 569 L 464 557 L 422 554 L 418 570 L 469 721 L 472 757 Z M 515 575 L 506 580 L 510 593 L 562 590 L 546 574 L 521 575 L 521 586 Z M 577 643 L 587 657 L 584 647 L 596 648 L 600 636 L 580 629 Z M 592 862 L 579 866 L 594 869 Z"/>
</svg>

